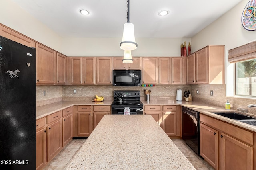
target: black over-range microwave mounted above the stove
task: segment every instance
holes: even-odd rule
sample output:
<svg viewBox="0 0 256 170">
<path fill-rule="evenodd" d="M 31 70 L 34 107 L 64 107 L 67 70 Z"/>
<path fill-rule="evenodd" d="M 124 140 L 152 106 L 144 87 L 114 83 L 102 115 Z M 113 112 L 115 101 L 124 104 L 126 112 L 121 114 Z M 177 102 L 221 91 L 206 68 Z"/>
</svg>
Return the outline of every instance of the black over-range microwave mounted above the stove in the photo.
<svg viewBox="0 0 256 170">
<path fill-rule="evenodd" d="M 140 86 L 141 70 L 113 70 L 113 86 Z"/>
</svg>

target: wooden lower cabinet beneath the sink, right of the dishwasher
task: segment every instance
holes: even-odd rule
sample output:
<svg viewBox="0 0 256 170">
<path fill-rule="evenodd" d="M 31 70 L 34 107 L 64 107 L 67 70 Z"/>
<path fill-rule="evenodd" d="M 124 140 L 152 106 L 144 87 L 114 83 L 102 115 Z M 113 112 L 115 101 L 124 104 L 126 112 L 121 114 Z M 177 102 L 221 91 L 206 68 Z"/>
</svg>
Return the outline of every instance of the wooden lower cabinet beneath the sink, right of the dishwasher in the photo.
<svg viewBox="0 0 256 170">
<path fill-rule="evenodd" d="M 253 138 L 251 131 L 200 114 L 200 155 L 215 169 L 252 170 Z"/>
</svg>

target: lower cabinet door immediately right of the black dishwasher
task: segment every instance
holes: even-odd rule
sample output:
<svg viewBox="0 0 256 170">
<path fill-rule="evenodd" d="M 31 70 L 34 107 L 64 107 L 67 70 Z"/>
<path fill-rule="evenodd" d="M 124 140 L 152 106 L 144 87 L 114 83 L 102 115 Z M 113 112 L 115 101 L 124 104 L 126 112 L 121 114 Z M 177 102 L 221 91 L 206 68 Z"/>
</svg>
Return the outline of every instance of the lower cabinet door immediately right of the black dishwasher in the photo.
<svg viewBox="0 0 256 170">
<path fill-rule="evenodd" d="M 200 123 L 200 155 L 218 169 L 218 131 Z"/>
</svg>

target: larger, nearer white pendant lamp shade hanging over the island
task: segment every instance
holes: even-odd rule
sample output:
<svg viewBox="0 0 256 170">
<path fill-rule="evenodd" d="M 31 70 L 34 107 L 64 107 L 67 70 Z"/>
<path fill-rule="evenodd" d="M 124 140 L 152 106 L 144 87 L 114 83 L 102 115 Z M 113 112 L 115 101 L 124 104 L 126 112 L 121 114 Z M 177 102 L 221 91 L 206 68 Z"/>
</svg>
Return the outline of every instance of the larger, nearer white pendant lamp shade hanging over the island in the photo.
<svg viewBox="0 0 256 170">
<path fill-rule="evenodd" d="M 135 42 L 134 25 L 130 22 L 124 24 L 124 32 L 120 48 L 122 50 L 135 50 L 138 44 Z"/>
</svg>

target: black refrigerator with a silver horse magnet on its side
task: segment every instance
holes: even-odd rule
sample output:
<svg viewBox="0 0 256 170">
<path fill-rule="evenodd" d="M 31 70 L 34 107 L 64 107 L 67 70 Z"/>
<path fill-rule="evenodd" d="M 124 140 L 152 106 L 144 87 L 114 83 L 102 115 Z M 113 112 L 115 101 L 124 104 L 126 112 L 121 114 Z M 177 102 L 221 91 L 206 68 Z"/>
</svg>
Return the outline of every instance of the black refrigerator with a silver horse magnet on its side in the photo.
<svg viewBox="0 0 256 170">
<path fill-rule="evenodd" d="M 0 36 L 0 169 L 36 169 L 36 49 Z"/>
</svg>

